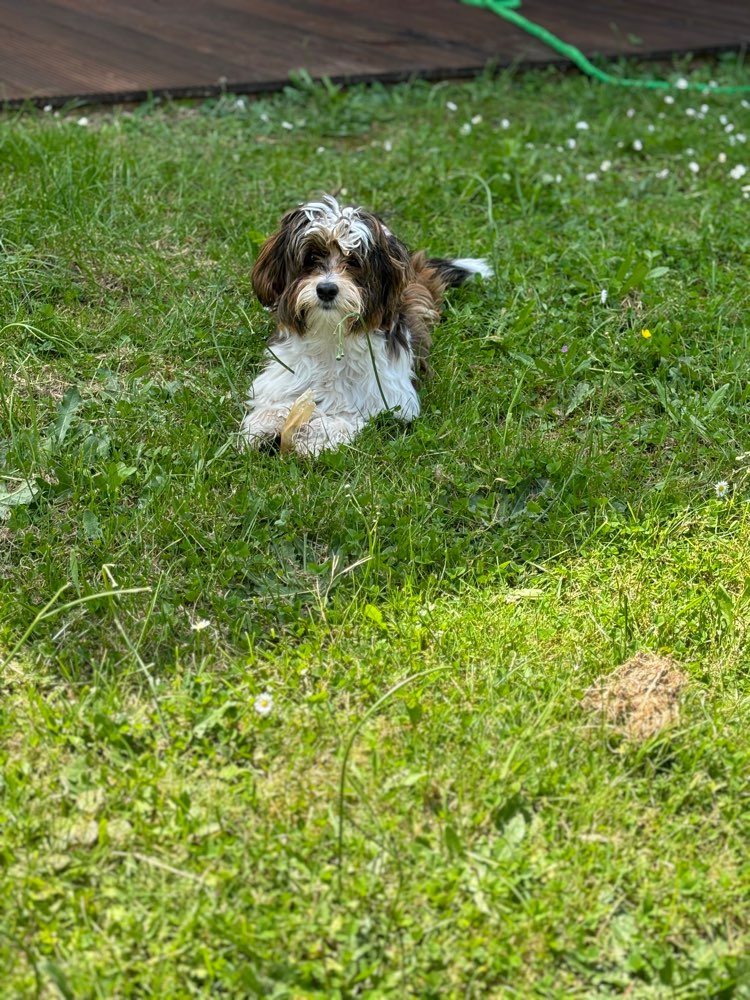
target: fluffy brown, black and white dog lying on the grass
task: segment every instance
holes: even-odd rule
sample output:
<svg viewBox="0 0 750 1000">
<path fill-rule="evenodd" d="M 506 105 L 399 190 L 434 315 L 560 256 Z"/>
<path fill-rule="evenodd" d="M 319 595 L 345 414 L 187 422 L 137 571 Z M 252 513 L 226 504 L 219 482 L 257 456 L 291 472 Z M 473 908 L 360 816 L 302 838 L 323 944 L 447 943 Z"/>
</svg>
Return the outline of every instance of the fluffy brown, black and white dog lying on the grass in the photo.
<svg viewBox="0 0 750 1000">
<path fill-rule="evenodd" d="M 350 443 L 379 413 L 413 420 L 443 293 L 491 274 L 484 259 L 412 254 L 376 215 L 330 195 L 287 212 L 252 273 L 277 330 L 247 401 L 246 445 L 283 444 L 303 394 L 312 415 L 290 445 L 300 455 Z"/>
</svg>

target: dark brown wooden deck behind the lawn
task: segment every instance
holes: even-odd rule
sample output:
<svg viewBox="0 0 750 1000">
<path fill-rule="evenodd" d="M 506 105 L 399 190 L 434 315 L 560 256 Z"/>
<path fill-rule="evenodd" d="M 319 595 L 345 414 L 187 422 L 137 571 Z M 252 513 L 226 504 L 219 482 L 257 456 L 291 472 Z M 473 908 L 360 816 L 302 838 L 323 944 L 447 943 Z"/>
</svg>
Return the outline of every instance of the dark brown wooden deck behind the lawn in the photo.
<svg viewBox="0 0 750 1000">
<path fill-rule="evenodd" d="M 750 0 L 524 0 L 588 55 L 660 57 L 750 43 Z M 559 62 L 458 0 L 0 0 L 0 101 L 60 105 L 337 82 L 469 76 Z"/>
</svg>

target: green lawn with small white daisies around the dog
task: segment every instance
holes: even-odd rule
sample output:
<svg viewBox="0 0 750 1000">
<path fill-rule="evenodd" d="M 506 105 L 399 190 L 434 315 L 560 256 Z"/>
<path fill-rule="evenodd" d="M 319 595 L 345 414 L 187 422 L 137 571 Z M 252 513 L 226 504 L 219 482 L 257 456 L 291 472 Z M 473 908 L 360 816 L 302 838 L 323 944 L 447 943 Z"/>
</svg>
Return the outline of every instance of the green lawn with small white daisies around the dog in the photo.
<svg viewBox="0 0 750 1000">
<path fill-rule="evenodd" d="M 6 995 L 749 997 L 747 103 L 79 117 L 0 121 Z M 411 429 L 242 454 L 254 254 L 341 188 L 497 278 Z M 641 650 L 645 743 L 582 705 Z"/>
</svg>

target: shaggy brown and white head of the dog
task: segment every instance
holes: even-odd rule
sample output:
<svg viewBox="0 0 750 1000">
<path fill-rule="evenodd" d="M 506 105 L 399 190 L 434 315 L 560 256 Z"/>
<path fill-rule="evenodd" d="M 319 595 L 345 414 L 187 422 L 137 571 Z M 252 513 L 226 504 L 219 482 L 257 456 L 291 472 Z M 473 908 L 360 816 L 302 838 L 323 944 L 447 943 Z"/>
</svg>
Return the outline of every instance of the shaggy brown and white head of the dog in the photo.
<svg viewBox="0 0 750 1000">
<path fill-rule="evenodd" d="M 408 250 L 377 216 L 326 196 L 283 217 L 258 255 L 253 288 L 300 335 L 387 329 L 410 270 Z"/>
</svg>

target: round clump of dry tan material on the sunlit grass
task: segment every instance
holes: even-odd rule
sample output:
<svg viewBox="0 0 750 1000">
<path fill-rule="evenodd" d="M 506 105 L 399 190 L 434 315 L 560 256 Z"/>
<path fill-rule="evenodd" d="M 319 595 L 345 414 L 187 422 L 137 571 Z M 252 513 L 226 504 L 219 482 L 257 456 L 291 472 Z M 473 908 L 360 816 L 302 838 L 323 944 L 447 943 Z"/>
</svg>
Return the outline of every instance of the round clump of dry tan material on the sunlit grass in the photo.
<svg viewBox="0 0 750 1000">
<path fill-rule="evenodd" d="M 671 656 L 636 653 L 600 684 L 588 689 L 583 707 L 632 740 L 647 740 L 680 715 L 687 676 Z"/>
</svg>

